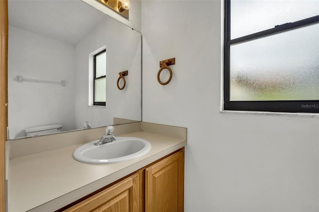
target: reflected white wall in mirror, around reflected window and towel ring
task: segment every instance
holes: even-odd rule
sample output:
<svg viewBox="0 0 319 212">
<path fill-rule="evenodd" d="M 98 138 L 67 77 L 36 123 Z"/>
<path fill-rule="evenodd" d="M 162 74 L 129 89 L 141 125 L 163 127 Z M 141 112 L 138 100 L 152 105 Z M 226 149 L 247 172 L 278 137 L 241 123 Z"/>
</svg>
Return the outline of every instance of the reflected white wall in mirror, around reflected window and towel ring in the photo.
<svg viewBox="0 0 319 212">
<path fill-rule="evenodd" d="M 106 46 L 106 106 L 89 105 L 89 54 Z M 113 124 L 113 118 L 141 120 L 141 34 L 107 16 L 76 45 L 75 123 L 92 127 Z M 126 87 L 117 88 L 119 72 L 128 70 Z"/>
</svg>

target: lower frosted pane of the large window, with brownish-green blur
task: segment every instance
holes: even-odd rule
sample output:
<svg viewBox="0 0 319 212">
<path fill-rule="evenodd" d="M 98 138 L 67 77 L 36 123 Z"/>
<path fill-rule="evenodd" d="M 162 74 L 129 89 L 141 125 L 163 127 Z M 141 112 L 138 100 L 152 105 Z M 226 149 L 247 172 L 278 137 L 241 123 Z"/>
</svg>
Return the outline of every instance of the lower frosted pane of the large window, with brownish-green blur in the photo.
<svg viewBox="0 0 319 212">
<path fill-rule="evenodd" d="M 230 45 L 230 101 L 319 100 L 319 24 Z"/>
</svg>

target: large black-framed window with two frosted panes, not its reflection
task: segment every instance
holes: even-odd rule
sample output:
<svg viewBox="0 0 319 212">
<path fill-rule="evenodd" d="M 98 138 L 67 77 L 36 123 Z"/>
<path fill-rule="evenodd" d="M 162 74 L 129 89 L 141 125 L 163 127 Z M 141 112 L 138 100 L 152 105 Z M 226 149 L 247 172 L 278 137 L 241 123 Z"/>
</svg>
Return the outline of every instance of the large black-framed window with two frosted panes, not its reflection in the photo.
<svg viewBox="0 0 319 212">
<path fill-rule="evenodd" d="M 319 0 L 224 9 L 224 109 L 319 113 Z"/>
</svg>

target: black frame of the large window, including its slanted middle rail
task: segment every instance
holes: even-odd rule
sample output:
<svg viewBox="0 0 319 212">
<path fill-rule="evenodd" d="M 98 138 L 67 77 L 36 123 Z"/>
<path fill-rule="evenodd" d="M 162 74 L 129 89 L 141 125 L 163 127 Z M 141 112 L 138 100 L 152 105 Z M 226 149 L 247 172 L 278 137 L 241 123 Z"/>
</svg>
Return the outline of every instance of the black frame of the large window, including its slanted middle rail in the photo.
<svg viewBox="0 0 319 212">
<path fill-rule="evenodd" d="M 230 37 L 231 0 L 224 0 L 224 110 L 319 113 L 319 100 L 304 101 L 230 101 L 230 45 L 319 23 L 319 15 L 276 25 L 235 39 Z"/>
</svg>

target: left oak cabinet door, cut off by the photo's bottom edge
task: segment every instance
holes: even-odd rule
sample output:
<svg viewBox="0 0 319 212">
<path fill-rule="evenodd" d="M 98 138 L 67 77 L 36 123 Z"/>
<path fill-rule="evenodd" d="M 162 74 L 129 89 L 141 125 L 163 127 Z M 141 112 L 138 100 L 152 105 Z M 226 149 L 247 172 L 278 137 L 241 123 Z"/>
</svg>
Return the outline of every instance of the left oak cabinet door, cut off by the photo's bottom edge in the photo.
<svg viewBox="0 0 319 212">
<path fill-rule="evenodd" d="M 139 212 L 139 175 L 105 189 L 65 212 Z"/>
</svg>

